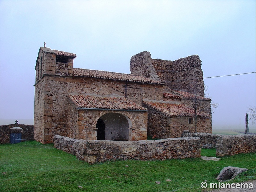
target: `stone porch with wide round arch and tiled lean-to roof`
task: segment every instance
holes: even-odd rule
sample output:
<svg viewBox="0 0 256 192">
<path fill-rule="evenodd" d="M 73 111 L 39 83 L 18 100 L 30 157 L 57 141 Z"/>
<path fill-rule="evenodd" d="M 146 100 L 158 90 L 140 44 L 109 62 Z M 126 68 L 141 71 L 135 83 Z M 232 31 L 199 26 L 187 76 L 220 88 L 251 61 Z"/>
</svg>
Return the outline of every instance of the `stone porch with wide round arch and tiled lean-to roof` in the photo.
<svg viewBox="0 0 256 192">
<path fill-rule="evenodd" d="M 68 136 L 83 140 L 147 140 L 148 111 L 123 97 L 69 95 Z"/>
</svg>

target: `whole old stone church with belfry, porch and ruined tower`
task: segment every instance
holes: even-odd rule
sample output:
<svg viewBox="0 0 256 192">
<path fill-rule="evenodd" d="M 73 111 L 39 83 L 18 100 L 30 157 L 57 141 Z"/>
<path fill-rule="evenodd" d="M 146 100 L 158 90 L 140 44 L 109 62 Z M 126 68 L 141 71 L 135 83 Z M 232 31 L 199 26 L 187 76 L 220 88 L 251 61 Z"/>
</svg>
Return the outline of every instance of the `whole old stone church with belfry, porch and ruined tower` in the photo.
<svg viewBox="0 0 256 192">
<path fill-rule="evenodd" d="M 212 133 L 198 55 L 176 61 L 131 57 L 131 74 L 73 68 L 76 54 L 40 47 L 36 60 L 34 137 L 147 140 Z M 193 100 L 199 101 L 197 115 Z"/>
</svg>

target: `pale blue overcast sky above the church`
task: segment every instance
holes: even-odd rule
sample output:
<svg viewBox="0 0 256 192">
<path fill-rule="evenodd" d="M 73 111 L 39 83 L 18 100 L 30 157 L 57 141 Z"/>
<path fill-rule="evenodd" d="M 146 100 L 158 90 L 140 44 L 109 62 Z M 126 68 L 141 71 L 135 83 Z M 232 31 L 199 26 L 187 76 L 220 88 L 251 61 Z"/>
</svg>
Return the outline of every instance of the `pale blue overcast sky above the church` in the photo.
<svg viewBox="0 0 256 192">
<path fill-rule="evenodd" d="M 204 77 L 256 71 L 255 0 L 0 0 L 0 24 L 0 124 L 33 119 L 44 42 L 75 53 L 74 68 L 130 73 L 131 56 L 150 51 L 172 61 L 197 54 Z M 244 128 L 255 107 L 255 73 L 204 83 L 220 104 L 213 128 Z"/>
</svg>

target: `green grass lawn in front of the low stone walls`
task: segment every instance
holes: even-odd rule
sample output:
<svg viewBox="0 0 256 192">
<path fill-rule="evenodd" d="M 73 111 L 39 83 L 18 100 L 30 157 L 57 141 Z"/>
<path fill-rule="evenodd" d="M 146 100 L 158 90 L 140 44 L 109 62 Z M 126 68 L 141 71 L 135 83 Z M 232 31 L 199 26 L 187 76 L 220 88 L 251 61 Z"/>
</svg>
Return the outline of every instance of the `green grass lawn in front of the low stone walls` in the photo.
<svg viewBox="0 0 256 192">
<path fill-rule="evenodd" d="M 214 150 L 207 150 L 203 149 L 202 155 L 215 155 Z M 215 178 L 226 166 L 249 169 L 231 183 L 255 180 L 255 160 L 256 153 L 248 153 L 220 161 L 127 160 L 89 165 L 53 144 L 1 144 L 0 191 L 202 191 L 200 183 L 218 183 Z"/>
</svg>

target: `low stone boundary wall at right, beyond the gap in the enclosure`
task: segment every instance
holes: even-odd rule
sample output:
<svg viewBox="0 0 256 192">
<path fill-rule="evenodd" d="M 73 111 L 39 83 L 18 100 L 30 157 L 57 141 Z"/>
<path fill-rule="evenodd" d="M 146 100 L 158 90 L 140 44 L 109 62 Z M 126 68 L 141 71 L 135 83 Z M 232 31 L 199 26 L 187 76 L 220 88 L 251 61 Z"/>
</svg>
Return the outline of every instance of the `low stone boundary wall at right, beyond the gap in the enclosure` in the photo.
<svg viewBox="0 0 256 192">
<path fill-rule="evenodd" d="M 212 145 L 219 157 L 256 152 L 256 135 L 217 135 L 185 131 L 182 137 L 200 137 L 201 145 Z"/>
</svg>

